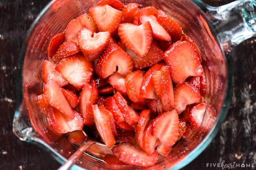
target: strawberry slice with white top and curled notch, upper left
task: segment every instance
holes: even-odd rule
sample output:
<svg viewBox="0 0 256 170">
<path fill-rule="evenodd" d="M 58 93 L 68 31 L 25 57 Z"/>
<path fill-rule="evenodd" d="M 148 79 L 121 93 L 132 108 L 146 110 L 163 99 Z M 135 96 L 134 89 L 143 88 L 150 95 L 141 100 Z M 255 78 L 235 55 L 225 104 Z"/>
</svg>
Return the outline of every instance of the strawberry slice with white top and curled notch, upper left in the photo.
<svg viewBox="0 0 256 170">
<path fill-rule="evenodd" d="M 93 61 L 101 55 L 110 40 L 110 33 L 98 32 L 93 33 L 89 29 L 82 28 L 78 32 L 78 43 L 84 57 L 88 61 Z"/>
</svg>

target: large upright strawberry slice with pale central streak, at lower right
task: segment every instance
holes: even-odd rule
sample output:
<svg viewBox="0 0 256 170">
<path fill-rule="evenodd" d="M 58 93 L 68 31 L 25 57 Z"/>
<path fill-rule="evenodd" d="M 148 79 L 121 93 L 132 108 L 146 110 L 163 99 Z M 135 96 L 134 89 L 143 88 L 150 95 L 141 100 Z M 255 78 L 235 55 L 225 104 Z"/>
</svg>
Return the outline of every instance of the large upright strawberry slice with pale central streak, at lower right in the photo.
<svg viewBox="0 0 256 170">
<path fill-rule="evenodd" d="M 171 147 L 175 144 L 179 134 L 179 118 L 176 110 L 166 111 L 153 120 L 153 135 L 159 139 L 161 145 Z"/>
</svg>

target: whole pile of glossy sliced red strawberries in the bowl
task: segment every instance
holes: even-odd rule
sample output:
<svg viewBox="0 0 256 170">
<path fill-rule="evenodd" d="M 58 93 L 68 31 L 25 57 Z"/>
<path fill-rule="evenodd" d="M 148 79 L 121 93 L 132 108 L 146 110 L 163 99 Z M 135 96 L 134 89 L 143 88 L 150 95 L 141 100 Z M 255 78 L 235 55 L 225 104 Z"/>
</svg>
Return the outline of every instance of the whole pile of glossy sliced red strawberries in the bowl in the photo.
<svg viewBox="0 0 256 170">
<path fill-rule="evenodd" d="M 180 25 L 139 7 L 102 0 L 53 36 L 38 103 L 49 128 L 72 143 L 84 139 L 79 130 L 97 129 L 121 162 L 150 166 L 200 126 L 207 82 Z"/>
</svg>

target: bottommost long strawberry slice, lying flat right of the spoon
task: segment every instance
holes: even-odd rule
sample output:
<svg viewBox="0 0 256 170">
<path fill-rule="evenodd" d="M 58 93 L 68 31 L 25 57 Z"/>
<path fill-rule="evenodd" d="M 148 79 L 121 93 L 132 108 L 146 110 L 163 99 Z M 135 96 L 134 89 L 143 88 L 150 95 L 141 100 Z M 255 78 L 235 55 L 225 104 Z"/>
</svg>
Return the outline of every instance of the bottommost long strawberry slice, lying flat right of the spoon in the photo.
<svg viewBox="0 0 256 170">
<path fill-rule="evenodd" d="M 120 161 L 131 165 L 151 166 L 158 161 L 157 152 L 147 155 L 143 150 L 137 149 L 130 143 L 116 145 L 113 147 L 112 152 Z"/>
</svg>

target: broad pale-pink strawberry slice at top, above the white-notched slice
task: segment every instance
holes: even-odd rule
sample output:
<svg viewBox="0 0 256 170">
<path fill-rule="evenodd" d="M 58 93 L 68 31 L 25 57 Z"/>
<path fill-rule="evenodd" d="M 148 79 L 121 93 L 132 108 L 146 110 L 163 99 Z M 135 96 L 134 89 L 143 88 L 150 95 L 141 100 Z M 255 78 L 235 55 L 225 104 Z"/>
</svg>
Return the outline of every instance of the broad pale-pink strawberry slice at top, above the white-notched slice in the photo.
<svg viewBox="0 0 256 170">
<path fill-rule="evenodd" d="M 98 31 L 109 31 L 111 35 L 116 31 L 122 21 L 122 11 L 109 5 L 95 5 L 89 9 Z"/>
</svg>

